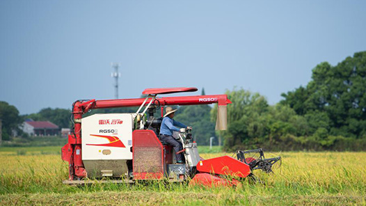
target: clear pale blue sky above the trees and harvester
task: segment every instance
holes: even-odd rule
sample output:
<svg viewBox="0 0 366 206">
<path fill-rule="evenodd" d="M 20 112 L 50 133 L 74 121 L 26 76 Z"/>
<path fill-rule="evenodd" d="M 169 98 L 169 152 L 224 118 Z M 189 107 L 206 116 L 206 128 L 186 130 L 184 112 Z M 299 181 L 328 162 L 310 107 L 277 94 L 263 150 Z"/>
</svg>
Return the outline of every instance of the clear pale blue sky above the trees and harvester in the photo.
<svg viewBox="0 0 366 206">
<path fill-rule="evenodd" d="M 366 50 L 366 1 L 0 1 L 0 101 L 21 114 L 145 88 L 244 88 L 270 104 Z M 199 95 L 199 92 L 193 95 Z"/>
</svg>

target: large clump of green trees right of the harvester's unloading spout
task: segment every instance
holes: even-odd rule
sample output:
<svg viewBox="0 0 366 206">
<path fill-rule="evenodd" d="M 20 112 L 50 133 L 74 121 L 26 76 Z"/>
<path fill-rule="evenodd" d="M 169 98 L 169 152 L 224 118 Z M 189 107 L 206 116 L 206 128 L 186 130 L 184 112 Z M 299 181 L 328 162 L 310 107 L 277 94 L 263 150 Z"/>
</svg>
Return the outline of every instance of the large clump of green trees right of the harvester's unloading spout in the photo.
<svg viewBox="0 0 366 206">
<path fill-rule="evenodd" d="M 225 150 L 365 150 L 366 52 L 335 66 L 320 63 L 306 86 L 276 105 L 244 89 L 228 90 Z M 216 107 L 212 110 L 216 116 Z"/>
</svg>

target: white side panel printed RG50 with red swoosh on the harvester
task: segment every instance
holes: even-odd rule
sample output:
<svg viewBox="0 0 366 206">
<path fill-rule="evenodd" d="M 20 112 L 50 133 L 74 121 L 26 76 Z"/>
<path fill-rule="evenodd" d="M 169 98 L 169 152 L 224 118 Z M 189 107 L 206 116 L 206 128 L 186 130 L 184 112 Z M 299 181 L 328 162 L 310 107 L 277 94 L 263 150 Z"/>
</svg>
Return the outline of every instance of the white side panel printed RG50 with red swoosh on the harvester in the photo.
<svg viewBox="0 0 366 206">
<path fill-rule="evenodd" d="M 82 159 L 132 159 L 132 115 L 103 113 L 82 118 Z"/>
</svg>

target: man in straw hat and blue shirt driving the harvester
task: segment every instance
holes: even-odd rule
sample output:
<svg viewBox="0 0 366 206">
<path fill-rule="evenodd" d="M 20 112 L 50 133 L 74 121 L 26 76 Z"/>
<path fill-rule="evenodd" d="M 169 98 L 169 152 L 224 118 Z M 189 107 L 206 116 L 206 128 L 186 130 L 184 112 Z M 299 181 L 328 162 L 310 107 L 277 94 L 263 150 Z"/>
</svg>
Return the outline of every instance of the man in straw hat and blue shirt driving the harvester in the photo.
<svg viewBox="0 0 366 206">
<path fill-rule="evenodd" d="M 179 141 L 175 140 L 175 138 L 173 138 L 173 132 L 180 132 L 180 129 L 178 129 L 177 127 L 181 127 L 181 128 L 186 128 L 186 129 L 192 129 L 192 127 L 187 127 L 186 125 L 182 124 L 181 122 L 175 121 L 173 120 L 174 118 L 174 113 L 175 111 L 177 111 L 177 109 L 171 108 L 170 106 L 166 107 L 166 114 L 163 118 L 163 121 L 161 122 L 161 127 L 160 127 L 160 139 L 161 141 L 164 141 L 166 143 L 168 143 L 168 145 L 172 145 L 174 150 L 175 150 L 175 159 L 177 160 L 178 164 L 183 164 L 183 152 L 180 152 L 181 150 L 183 150 L 183 146 L 182 143 L 180 143 Z M 177 126 L 177 127 L 174 127 Z M 180 152 L 180 153 L 178 153 Z"/>
</svg>

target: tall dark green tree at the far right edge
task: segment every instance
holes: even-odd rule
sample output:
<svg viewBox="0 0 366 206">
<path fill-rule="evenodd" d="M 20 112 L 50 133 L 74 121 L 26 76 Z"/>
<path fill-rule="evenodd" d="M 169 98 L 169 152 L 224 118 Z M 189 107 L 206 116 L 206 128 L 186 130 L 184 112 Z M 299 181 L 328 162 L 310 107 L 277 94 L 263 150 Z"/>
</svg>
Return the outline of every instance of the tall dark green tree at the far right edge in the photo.
<svg viewBox="0 0 366 206">
<path fill-rule="evenodd" d="M 362 138 L 366 135 L 366 52 L 336 66 L 320 63 L 306 88 L 283 94 L 281 104 L 305 115 L 312 134 Z M 321 128 L 320 130 L 318 130 Z"/>
</svg>

